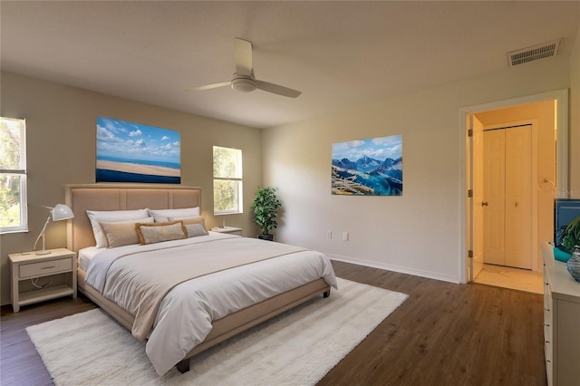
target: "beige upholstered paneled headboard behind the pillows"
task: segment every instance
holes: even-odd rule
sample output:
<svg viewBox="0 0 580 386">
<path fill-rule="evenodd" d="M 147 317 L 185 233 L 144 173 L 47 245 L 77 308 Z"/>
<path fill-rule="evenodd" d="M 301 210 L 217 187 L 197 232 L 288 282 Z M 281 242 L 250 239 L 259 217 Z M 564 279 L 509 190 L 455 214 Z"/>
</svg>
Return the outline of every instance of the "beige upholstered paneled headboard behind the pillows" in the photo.
<svg viewBox="0 0 580 386">
<path fill-rule="evenodd" d="M 66 227 L 66 247 L 77 252 L 96 244 L 86 210 L 201 209 L 201 188 L 165 184 L 71 184 L 64 186 L 64 203 L 74 213 Z"/>
</svg>

